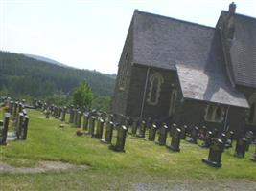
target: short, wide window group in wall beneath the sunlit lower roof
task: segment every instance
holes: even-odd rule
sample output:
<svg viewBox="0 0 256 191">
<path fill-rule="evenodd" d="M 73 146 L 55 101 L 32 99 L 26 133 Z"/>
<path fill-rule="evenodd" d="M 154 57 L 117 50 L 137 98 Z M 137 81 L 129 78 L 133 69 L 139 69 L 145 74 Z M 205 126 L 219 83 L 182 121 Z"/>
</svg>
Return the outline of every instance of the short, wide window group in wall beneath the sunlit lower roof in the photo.
<svg viewBox="0 0 256 191">
<path fill-rule="evenodd" d="M 219 105 L 207 105 L 204 119 L 210 122 L 222 122 L 224 119 L 224 108 Z"/>
</svg>

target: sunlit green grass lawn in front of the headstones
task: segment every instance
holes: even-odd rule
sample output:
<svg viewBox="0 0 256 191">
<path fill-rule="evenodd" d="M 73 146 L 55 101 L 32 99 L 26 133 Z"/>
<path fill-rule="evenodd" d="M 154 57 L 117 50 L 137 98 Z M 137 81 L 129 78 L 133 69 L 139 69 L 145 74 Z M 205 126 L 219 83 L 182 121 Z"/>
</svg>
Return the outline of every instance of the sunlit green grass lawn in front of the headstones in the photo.
<svg viewBox="0 0 256 191">
<path fill-rule="evenodd" d="M 254 146 L 244 159 L 233 157 L 234 149 L 226 150 L 222 168 L 216 169 L 201 162 L 208 156 L 208 149 L 183 140 L 180 153 L 175 153 L 143 138 L 128 136 L 126 152 L 116 153 L 96 138 L 75 136 L 77 129 L 69 124 L 59 128 L 61 122 L 57 119 L 46 119 L 35 110 L 28 113 L 28 139 L 0 146 L 0 161 L 32 167 L 40 160 L 54 160 L 86 164 L 90 168 L 61 173 L 0 174 L 0 190 L 136 190 L 136 186 L 139 189 L 146 184 L 152 190 L 164 190 L 161 186 L 181 184 L 190 189 L 216 181 L 256 181 L 256 163 L 249 160 Z"/>
</svg>

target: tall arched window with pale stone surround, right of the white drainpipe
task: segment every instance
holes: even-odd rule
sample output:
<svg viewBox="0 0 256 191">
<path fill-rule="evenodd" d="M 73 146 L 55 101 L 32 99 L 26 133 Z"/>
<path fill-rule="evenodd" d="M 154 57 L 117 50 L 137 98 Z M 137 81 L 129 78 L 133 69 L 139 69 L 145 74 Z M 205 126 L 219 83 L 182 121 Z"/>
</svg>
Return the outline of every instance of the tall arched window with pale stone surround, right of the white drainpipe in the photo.
<svg viewBox="0 0 256 191">
<path fill-rule="evenodd" d="M 157 105 L 161 92 L 161 85 L 164 82 L 164 78 L 160 73 L 154 73 L 150 77 L 150 88 L 147 102 L 150 105 Z"/>
</svg>

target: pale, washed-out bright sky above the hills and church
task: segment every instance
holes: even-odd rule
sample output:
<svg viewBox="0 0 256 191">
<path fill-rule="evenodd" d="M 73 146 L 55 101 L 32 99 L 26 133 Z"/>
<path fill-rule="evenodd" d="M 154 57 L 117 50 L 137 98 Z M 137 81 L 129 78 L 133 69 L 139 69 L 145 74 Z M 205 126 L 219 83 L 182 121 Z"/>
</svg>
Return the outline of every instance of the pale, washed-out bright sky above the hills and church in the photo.
<svg viewBox="0 0 256 191">
<path fill-rule="evenodd" d="M 0 50 L 116 74 L 135 9 L 214 27 L 232 0 L 0 0 Z M 256 0 L 236 0 L 256 17 Z"/>
</svg>

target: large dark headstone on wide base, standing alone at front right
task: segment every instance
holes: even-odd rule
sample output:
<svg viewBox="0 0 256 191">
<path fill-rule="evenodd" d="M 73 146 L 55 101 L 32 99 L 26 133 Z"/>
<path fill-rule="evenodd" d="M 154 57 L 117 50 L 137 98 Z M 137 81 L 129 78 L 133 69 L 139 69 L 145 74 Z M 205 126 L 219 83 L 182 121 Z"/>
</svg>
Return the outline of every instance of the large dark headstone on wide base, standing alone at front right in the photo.
<svg viewBox="0 0 256 191">
<path fill-rule="evenodd" d="M 224 144 L 219 138 L 213 138 L 213 143 L 210 147 L 208 159 L 202 159 L 208 165 L 221 168 L 221 156 L 224 150 Z"/>
</svg>

